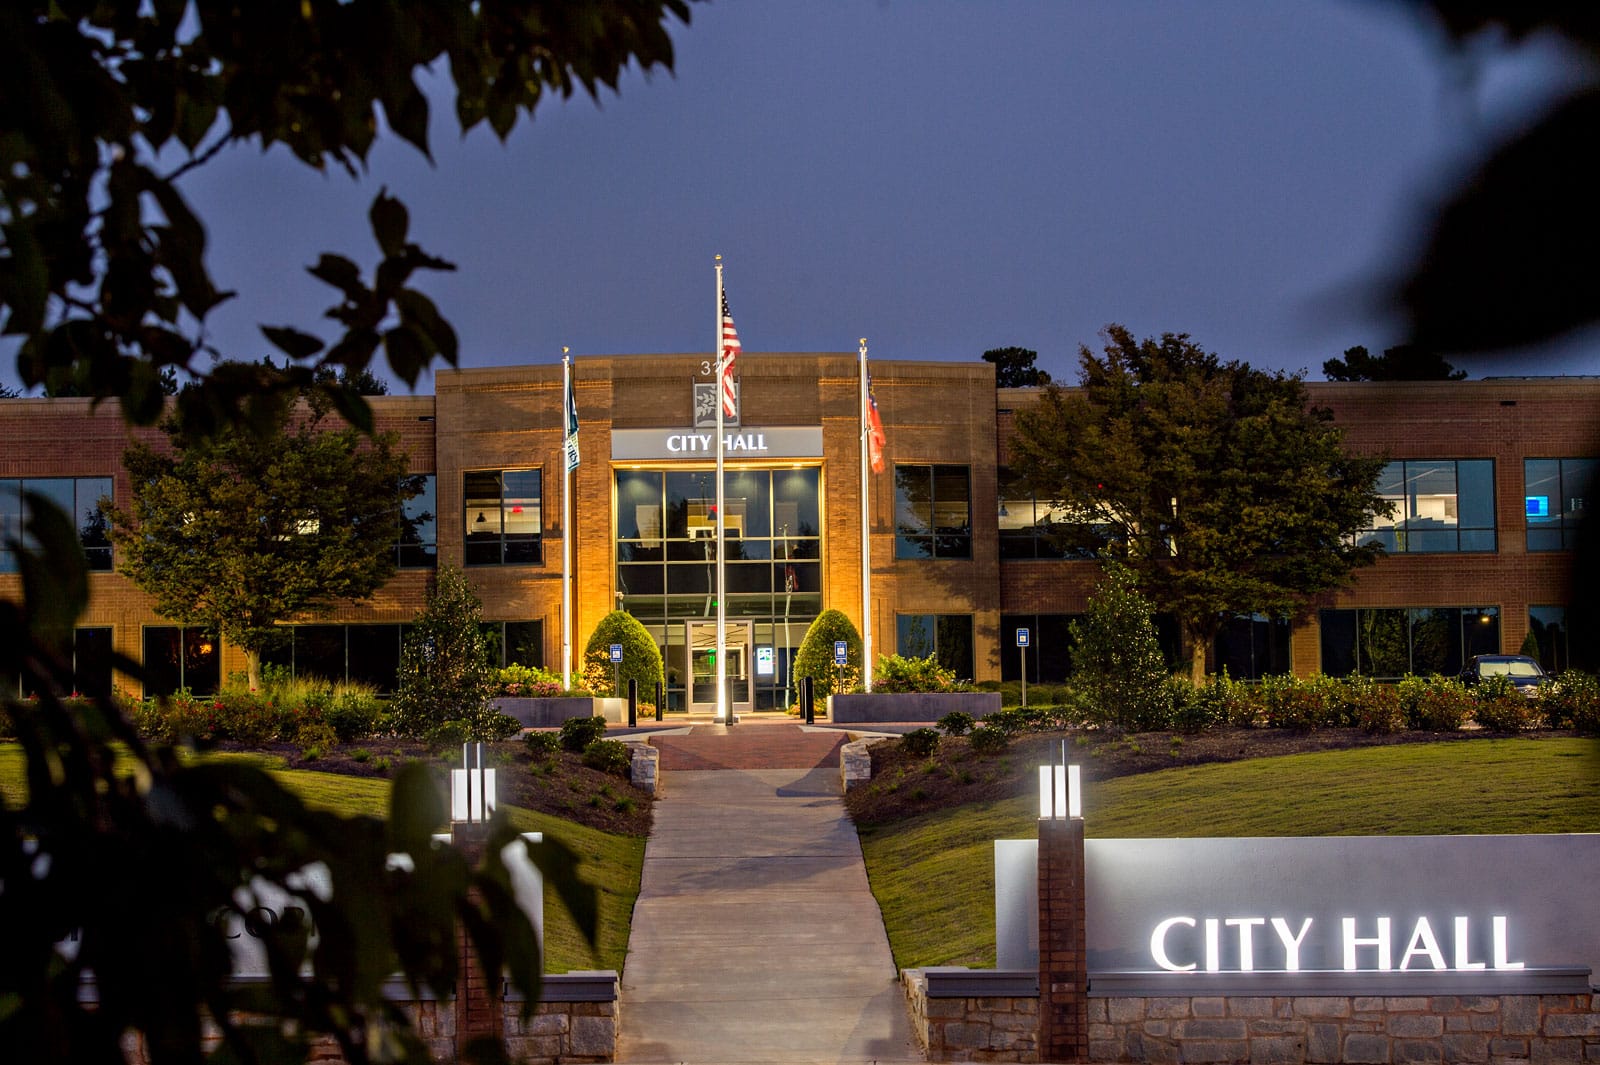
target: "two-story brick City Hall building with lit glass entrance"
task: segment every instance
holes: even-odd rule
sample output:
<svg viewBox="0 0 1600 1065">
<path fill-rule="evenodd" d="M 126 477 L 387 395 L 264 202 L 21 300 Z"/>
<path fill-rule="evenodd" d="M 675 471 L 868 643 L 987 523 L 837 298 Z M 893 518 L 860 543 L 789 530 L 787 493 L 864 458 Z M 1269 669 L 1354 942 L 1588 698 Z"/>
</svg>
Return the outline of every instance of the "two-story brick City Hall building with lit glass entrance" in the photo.
<svg viewBox="0 0 1600 1065">
<path fill-rule="evenodd" d="M 936 654 L 978 681 L 1070 670 L 1069 622 L 1096 563 L 1064 556 L 1045 501 L 1013 488 L 1013 416 L 1037 390 L 995 389 L 989 363 L 874 360 L 885 470 L 862 477 L 854 353 L 746 353 L 725 429 L 725 670 L 738 712 L 786 707 L 790 662 L 824 609 L 862 624 L 870 572 L 877 652 Z M 710 355 L 573 361 L 581 462 L 571 478 L 573 609 L 562 616 L 560 363 L 442 371 L 432 397 L 378 397 L 422 494 L 406 504 L 398 572 L 370 600 L 285 627 L 269 662 L 389 689 L 403 627 L 438 564 L 462 568 L 502 662 L 560 670 L 626 609 L 656 638 L 670 710 L 709 710 L 715 675 L 715 379 Z M 1584 485 L 1595 472 L 1600 377 L 1307 385 L 1347 446 L 1387 456 L 1389 555 L 1296 619 L 1232 619 L 1216 646 L 1234 676 L 1451 673 L 1534 635 L 1566 664 L 1565 604 Z M 205 692 L 243 668 L 211 633 L 157 616 L 117 572 L 98 501 L 130 501 L 115 405 L 0 400 L 0 536 L 22 536 L 24 491 L 78 515 L 93 574 L 75 640 L 78 686 Z M 866 515 L 862 515 L 862 507 Z M 866 518 L 866 520 L 862 520 Z M 0 595 L 19 596 L 10 547 Z M 110 652 L 144 665 L 114 676 Z"/>
</svg>

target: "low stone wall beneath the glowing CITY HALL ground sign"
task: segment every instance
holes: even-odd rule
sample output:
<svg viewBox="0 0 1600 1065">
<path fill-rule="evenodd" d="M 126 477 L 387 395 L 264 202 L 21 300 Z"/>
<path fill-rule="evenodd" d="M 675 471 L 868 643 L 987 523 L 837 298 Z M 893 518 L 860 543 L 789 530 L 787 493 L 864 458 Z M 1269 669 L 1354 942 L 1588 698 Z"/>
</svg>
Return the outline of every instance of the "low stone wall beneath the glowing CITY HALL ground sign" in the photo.
<svg viewBox="0 0 1600 1065">
<path fill-rule="evenodd" d="M 907 969 L 912 1027 L 931 1062 L 1037 1062 L 1038 999 L 928 998 Z M 1595 995 L 1090 996 L 1090 1062 L 1600 1062 Z"/>
</svg>

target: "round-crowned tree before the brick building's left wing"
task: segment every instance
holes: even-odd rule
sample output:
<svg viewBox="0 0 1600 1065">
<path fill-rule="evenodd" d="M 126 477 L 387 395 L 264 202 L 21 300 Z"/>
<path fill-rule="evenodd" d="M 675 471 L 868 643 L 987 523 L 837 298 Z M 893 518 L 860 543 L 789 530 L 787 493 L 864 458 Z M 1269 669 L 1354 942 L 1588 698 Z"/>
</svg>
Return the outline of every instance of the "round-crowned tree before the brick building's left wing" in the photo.
<svg viewBox="0 0 1600 1065">
<path fill-rule="evenodd" d="M 394 574 L 402 504 L 419 488 L 392 433 L 325 429 L 315 411 L 280 419 L 266 437 L 163 422 L 171 453 L 130 448 L 131 507 L 110 509 L 122 572 L 162 616 L 238 646 L 251 688 L 280 622 Z"/>
</svg>

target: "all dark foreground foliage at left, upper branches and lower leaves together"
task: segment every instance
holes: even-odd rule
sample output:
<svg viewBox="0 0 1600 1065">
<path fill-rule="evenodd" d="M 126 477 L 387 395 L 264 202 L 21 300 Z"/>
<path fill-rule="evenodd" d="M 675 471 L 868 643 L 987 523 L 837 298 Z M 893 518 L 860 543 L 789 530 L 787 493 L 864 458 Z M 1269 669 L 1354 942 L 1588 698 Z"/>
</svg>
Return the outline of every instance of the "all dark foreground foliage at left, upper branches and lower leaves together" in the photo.
<svg viewBox="0 0 1600 1065">
<path fill-rule="evenodd" d="M 307 387 L 370 429 L 358 395 L 314 374 L 363 369 L 379 345 L 406 382 L 432 358 L 454 361 L 448 321 L 408 285 L 450 264 L 408 243 L 405 208 L 379 193 L 373 283 L 342 256 L 310 267 L 339 291 L 333 345 L 278 328 L 267 336 L 296 360 L 288 371 L 206 368 L 203 320 L 227 293 L 206 275 L 205 225 L 179 179 L 245 141 L 350 173 L 382 131 L 426 154 L 419 67 L 454 82 L 462 130 L 486 120 L 506 138 L 547 93 L 594 96 L 635 61 L 670 69 L 669 16 L 686 22 L 686 2 L 0 5 L 0 329 L 22 337 L 24 385 L 82 381 L 154 424 L 166 411 L 163 371 L 182 368 L 194 384 L 174 405 L 186 432 L 270 425 Z M 163 147 L 187 160 L 160 170 Z M 458 924 L 491 980 L 504 961 L 531 1014 L 541 966 L 509 907 L 498 857 L 509 825 L 470 868 L 427 844 L 445 814 L 421 771 L 398 776 L 387 822 L 338 817 L 246 766 L 194 766 L 146 747 L 112 697 L 69 705 L 88 566 L 67 515 L 38 496 L 27 513 L 29 542 L 11 545 L 22 595 L 0 600 L 0 675 L 38 692 L 0 696 L 29 785 L 26 806 L 0 806 L 0 1057 L 118 1060 L 146 1036 L 158 1060 L 198 1060 L 210 1022 L 240 1060 L 302 1060 L 318 1033 L 352 1063 L 426 1059 L 382 985 L 400 971 L 446 993 Z M 139 670 L 126 659 L 117 668 Z M 594 891 L 579 886 L 571 854 L 549 840 L 528 849 L 592 940 Z M 410 852 L 414 872 L 394 868 L 390 852 Z M 240 892 L 283 888 L 309 860 L 323 860 L 334 884 L 307 900 L 318 945 L 307 955 L 306 926 L 280 923 L 272 979 L 234 987 L 218 915 L 242 915 L 251 903 Z M 58 950 L 74 931 L 77 953 Z M 88 974 L 96 1004 L 82 1001 Z M 280 1023 L 242 1023 L 246 1007 Z"/>
</svg>

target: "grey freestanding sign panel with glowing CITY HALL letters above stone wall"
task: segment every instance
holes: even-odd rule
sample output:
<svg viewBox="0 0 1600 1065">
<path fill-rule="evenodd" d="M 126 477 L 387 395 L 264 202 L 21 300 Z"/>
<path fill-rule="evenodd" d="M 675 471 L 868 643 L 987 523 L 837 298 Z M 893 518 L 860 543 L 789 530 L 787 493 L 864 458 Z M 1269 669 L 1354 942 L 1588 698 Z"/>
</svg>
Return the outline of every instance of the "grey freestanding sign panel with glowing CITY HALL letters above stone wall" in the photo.
<svg viewBox="0 0 1600 1065">
<path fill-rule="evenodd" d="M 1037 840 L 995 841 L 1000 969 L 1038 966 Z M 1094 974 L 1600 974 L 1600 835 L 1083 841 Z M 1288 977 L 1286 979 L 1293 979 Z"/>
</svg>

